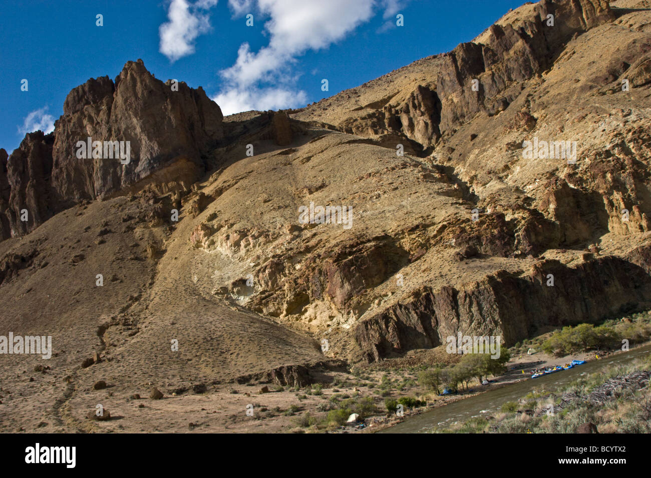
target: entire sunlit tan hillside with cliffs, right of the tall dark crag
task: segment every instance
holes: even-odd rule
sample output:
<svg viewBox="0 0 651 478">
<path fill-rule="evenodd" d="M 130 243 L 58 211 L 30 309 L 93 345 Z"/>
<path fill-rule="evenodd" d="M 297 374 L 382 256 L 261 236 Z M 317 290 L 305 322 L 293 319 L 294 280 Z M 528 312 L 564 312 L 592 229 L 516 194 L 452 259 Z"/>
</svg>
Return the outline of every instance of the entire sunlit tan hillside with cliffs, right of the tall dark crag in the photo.
<svg viewBox="0 0 651 478">
<path fill-rule="evenodd" d="M 648 306 L 650 81 L 622 89 L 646 71 L 648 20 L 602 1 L 525 5 L 290 112 L 309 140 L 255 172 L 233 163 L 193 203 L 189 243 L 220 258 L 198 283 L 352 362 Z M 575 142 L 576 161 L 526 157 L 534 137 Z M 288 209 L 312 202 L 351 206 L 351 230 L 297 224 Z"/>
</svg>

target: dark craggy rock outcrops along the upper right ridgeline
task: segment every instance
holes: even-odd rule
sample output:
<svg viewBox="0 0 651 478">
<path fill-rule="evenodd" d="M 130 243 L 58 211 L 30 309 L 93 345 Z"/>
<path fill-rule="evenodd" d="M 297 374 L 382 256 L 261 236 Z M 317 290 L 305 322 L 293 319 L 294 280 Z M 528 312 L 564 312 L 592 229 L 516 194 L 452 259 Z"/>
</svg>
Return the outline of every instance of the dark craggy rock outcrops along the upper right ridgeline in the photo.
<svg viewBox="0 0 651 478">
<path fill-rule="evenodd" d="M 381 79 L 344 92 L 346 105 L 326 98 L 296 118 L 322 120 L 354 135 L 397 133 L 428 149 L 480 111 L 505 110 L 521 82 L 552 66 L 572 36 L 615 19 L 605 0 L 546 0 L 518 11 L 517 18 L 495 23 L 474 42 L 408 67 L 422 66 L 430 74 L 403 81 L 412 76 L 400 74 L 406 68 L 389 73 L 383 78 L 391 86 L 378 101 L 366 103 L 365 89 Z"/>
</svg>

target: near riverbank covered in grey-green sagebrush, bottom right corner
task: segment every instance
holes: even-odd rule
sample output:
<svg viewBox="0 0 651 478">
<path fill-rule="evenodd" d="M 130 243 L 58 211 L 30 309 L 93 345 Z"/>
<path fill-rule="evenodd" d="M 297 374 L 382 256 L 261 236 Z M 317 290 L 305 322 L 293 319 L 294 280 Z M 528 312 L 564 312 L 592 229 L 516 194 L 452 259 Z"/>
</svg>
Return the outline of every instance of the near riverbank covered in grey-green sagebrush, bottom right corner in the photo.
<svg viewBox="0 0 651 478">
<path fill-rule="evenodd" d="M 639 350 L 639 349 L 643 350 Z M 499 408 L 436 421 L 434 433 L 649 433 L 650 347 L 615 354 L 609 367 L 585 365 L 571 380 L 551 381 Z M 569 374 L 568 374 L 569 375 Z M 558 378 L 558 377 L 555 377 Z M 475 408 L 476 410 L 476 408 Z M 430 417 L 428 417 L 430 418 Z M 432 417 L 435 418 L 436 417 Z"/>
</svg>

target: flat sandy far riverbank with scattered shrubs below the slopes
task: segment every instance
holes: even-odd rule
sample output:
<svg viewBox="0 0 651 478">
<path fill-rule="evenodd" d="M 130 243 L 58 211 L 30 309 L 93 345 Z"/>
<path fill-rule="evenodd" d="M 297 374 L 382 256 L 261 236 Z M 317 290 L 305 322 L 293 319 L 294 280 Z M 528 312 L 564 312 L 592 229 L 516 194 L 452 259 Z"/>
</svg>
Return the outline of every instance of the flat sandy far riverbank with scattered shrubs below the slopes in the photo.
<svg viewBox="0 0 651 478">
<path fill-rule="evenodd" d="M 631 315 L 626 319 L 635 325 L 648 323 L 647 317 L 648 314 L 645 313 L 643 316 Z M 617 319 L 617 322 L 622 320 L 624 318 Z M 553 384 L 559 379 L 563 380 L 564 376 L 583 370 L 583 367 L 589 368 L 589 364 L 595 362 L 594 352 L 564 357 L 541 352 L 541 345 L 553 333 L 550 330 L 547 334 L 510 347 L 508 354 L 511 358 L 506 363 L 504 373 L 492 377 L 486 386 L 480 385 L 477 378 L 470 378 L 467 384 L 464 381 L 467 389 L 460 386 L 460 393 L 456 395 L 438 396 L 432 383 L 424 379 L 426 373 L 434 369 L 450 369 L 462 360 L 462 355 L 449 354 L 445 347 L 437 347 L 410 351 L 404 356 L 373 364 L 356 365 L 350 370 L 322 371 L 319 375 L 314 372 L 316 383 L 300 388 L 253 381 L 246 384 L 222 383 L 208 386 L 206 390 L 168 390 L 161 400 L 137 399 L 134 395 L 122 395 L 114 388 L 101 392 L 106 393 L 104 401 L 112 401 L 111 414 L 137 414 L 139 419 L 132 423 L 121 420 L 100 424 L 93 422 L 94 428 L 89 431 L 145 432 L 154 429 L 159 432 L 368 433 L 398 425 L 402 428 L 402 425 L 410 421 L 418 421 L 417 416 L 421 414 L 449 406 L 445 412 L 441 412 L 442 419 L 445 420 L 446 416 L 450 416 L 449 410 L 458 409 L 456 413 L 463 414 L 467 408 L 465 403 L 475 401 L 478 395 L 487 392 L 501 395 L 501 390 L 511 394 L 510 390 L 517 390 L 519 382 L 529 382 L 529 371 L 533 368 L 562 365 L 572 359 L 588 362 L 570 371 L 536 378 L 531 383 L 537 387 L 539 380 L 541 384 Z M 635 349 L 637 347 L 640 345 Z M 528 355 L 529 349 L 537 352 Z M 501 352 L 505 354 L 506 349 Z M 600 354 L 601 360 L 614 359 L 616 355 L 616 352 Z M 523 370 L 525 373 L 522 373 Z M 5 402 L 5 405 L 0 403 L 0 409 L 11 406 L 10 396 L 0 398 Z M 395 404 L 401 402 L 404 404 L 404 416 L 399 417 L 395 411 L 390 410 L 395 410 Z M 411 404 L 419 402 L 425 405 L 410 408 Z M 189 407 L 184 405 L 187 403 L 190 404 Z M 70 410 L 83 410 L 85 403 L 76 398 L 67 406 Z M 494 409 L 495 406 L 484 408 Z M 482 408 L 475 413 L 480 413 L 480 410 Z M 156 420 L 161 414 L 170 414 L 174 419 L 159 424 Z M 351 414 L 359 414 L 361 423 L 347 424 Z"/>
</svg>

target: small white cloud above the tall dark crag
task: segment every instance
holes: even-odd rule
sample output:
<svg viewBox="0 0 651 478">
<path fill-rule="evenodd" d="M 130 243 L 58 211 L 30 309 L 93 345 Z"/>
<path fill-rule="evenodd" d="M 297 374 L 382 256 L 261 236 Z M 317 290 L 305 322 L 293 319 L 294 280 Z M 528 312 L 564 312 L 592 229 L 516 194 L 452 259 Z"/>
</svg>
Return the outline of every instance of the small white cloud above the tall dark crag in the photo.
<svg viewBox="0 0 651 478">
<path fill-rule="evenodd" d="M 171 62 L 195 52 L 197 36 L 210 30 L 210 15 L 208 10 L 217 5 L 217 0 L 197 0 L 188 3 L 186 0 L 171 0 L 167 18 L 159 29 L 160 47 Z"/>
</svg>

